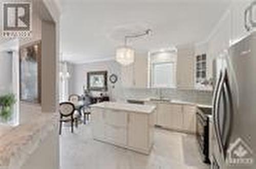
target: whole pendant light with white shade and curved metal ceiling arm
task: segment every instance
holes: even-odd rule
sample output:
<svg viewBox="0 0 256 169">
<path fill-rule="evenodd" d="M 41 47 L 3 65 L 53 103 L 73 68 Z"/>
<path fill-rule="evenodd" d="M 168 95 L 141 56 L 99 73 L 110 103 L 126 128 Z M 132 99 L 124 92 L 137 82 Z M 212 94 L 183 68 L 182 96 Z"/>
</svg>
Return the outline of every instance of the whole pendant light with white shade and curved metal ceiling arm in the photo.
<svg viewBox="0 0 256 169">
<path fill-rule="evenodd" d="M 134 63 L 135 50 L 132 47 L 127 46 L 127 39 L 139 38 L 142 36 L 150 35 L 151 32 L 152 31 L 150 29 L 148 29 L 141 34 L 125 36 L 124 37 L 124 46 L 116 49 L 116 61 L 123 66 L 127 66 L 127 65 Z"/>
</svg>

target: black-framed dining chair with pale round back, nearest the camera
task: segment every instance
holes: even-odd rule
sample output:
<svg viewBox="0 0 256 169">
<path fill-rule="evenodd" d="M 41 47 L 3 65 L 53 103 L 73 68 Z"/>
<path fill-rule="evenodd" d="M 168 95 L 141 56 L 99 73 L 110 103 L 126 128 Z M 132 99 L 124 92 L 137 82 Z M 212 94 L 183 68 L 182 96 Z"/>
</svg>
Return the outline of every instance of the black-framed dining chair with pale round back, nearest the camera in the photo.
<svg viewBox="0 0 256 169">
<path fill-rule="evenodd" d="M 71 102 L 62 102 L 59 104 L 59 135 L 61 135 L 61 128 L 63 122 L 71 122 L 71 132 L 74 132 L 74 122 L 77 127 L 78 117 L 75 115 L 75 106 Z"/>
</svg>

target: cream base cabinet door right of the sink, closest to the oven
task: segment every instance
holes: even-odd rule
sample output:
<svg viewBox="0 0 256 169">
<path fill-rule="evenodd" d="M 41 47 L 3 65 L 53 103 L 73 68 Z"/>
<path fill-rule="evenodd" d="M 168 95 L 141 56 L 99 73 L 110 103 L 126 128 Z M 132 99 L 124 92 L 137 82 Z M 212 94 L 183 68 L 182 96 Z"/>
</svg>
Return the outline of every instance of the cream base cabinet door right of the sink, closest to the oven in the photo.
<svg viewBox="0 0 256 169">
<path fill-rule="evenodd" d="M 183 129 L 190 133 L 196 133 L 195 105 L 183 105 Z"/>
</svg>

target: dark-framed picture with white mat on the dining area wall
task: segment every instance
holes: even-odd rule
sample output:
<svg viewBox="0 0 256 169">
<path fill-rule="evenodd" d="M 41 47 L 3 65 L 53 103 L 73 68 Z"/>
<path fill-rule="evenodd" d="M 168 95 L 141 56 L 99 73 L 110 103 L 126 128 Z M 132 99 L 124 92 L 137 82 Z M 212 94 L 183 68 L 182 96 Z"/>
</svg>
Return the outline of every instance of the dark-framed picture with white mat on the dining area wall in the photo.
<svg viewBox="0 0 256 169">
<path fill-rule="evenodd" d="M 108 91 L 108 71 L 88 72 L 87 89 L 89 91 Z"/>
</svg>

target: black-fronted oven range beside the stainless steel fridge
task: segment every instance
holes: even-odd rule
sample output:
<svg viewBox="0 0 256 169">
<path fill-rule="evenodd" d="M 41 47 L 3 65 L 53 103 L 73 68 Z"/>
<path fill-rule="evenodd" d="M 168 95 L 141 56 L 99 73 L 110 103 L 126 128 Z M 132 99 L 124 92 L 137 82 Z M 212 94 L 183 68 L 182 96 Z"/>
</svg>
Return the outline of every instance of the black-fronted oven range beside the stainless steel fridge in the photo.
<svg viewBox="0 0 256 169">
<path fill-rule="evenodd" d="M 203 162 L 210 163 L 209 160 L 209 117 L 207 112 L 210 111 L 206 108 L 198 108 L 196 115 L 196 129 L 197 129 L 197 142 L 199 151 L 202 155 Z"/>
</svg>

